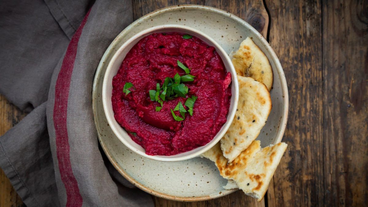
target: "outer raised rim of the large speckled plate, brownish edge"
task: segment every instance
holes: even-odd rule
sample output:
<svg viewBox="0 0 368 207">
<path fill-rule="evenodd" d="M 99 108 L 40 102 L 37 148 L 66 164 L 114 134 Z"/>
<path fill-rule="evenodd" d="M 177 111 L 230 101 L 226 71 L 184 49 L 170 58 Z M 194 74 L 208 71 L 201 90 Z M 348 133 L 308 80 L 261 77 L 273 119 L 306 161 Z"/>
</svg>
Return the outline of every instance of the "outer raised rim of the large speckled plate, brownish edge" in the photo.
<svg viewBox="0 0 368 207">
<path fill-rule="evenodd" d="M 279 73 L 279 76 L 280 76 L 281 87 L 282 87 L 282 91 L 283 91 L 283 95 L 284 95 L 283 96 L 284 106 L 283 106 L 282 117 L 281 117 L 281 120 L 280 120 L 280 129 L 279 129 L 279 132 L 276 135 L 276 139 L 274 141 L 274 144 L 281 142 L 281 140 L 283 138 L 283 134 L 284 134 L 285 129 L 286 129 L 286 123 L 287 123 L 287 118 L 288 118 L 288 113 L 289 113 L 289 91 L 287 89 L 286 78 L 285 78 L 285 75 L 284 75 L 283 68 L 281 66 L 281 63 L 280 63 L 279 58 L 277 57 L 276 53 L 271 48 L 271 46 L 266 41 L 266 39 L 255 28 L 253 28 L 250 24 L 245 22 L 240 17 L 238 17 L 234 14 L 231 14 L 227 11 L 221 10 L 219 8 L 214 8 L 214 7 L 204 6 L 204 5 L 196 5 L 196 4 L 179 4 L 179 5 L 164 7 L 164 8 L 160 8 L 158 10 L 152 11 L 151 13 L 148 13 L 148 14 L 138 18 L 137 20 L 132 22 L 130 25 L 125 27 L 123 29 L 123 31 L 121 31 L 116 36 L 116 38 L 112 41 L 112 43 L 110 43 L 109 47 L 106 49 L 105 53 L 103 54 L 103 56 L 102 56 L 102 58 L 101 58 L 101 60 L 98 64 L 98 67 L 97 67 L 96 72 L 95 72 L 95 77 L 93 78 L 93 84 L 92 84 L 92 102 L 91 103 L 92 103 L 92 110 L 93 110 L 93 122 L 96 125 L 96 130 L 98 130 L 98 127 L 97 127 L 98 124 L 97 124 L 96 119 L 95 119 L 96 111 L 97 111 L 95 109 L 95 104 L 96 104 L 95 102 L 98 99 L 98 92 L 96 91 L 97 87 L 98 87 L 97 86 L 97 82 L 98 82 L 97 80 L 99 79 L 98 74 L 100 74 L 100 70 L 102 68 L 102 65 L 105 64 L 106 57 L 110 54 L 110 51 L 113 49 L 115 42 L 120 37 L 120 34 L 124 33 L 125 31 L 129 30 L 132 27 L 135 27 L 137 24 L 139 24 L 139 22 L 142 22 L 146 18 L 151 18 L 153 15 L 159 15 L 161 12 L 172 11 L 172 10 L 184 10 L 185 7 L 189 7 L 191 9 L 211 11 L 211 12 L 219 13 L 221 15 L 229 15 L 229 18 L 233 18 L 234 21 L 237 21 L 239 24 L 242 24 L 245 27 L 247 27 L 248 29 L 252 30 L 252 32 L 254 32 L 256 35 L 258 35 L 261 38 L 262 43 L 266 46 L 266 48 L 270 52 L 270 55 L 275 59 L 275 66 L 276 66 L 277 73 Z M 132 185 L 138 187 L 139 189 L 141 189 L 141 190 L 143 190 L 143 191 L 145 191 L 149 194 L 152 194 L 153 196 L 161 197 L 161 198 L 168 199 L 168 200 L 174 200 L 174 201 L 205 201 L 205 200 L 210 200 L 210 199 L 216 199 L 216 198 L 219 198 L 219 197 L 223 197 L 223 196 L 226 196 L 230 193 L 233 193 L 233 192 L 236 192 L 237 190 L 239 190 L 239 189 L 230 189 L 230 190 L 224 190 L 222 193 L 216 194 L 215 196 L 206 195 L 206 196 L 195 196 L 195 197 L 173 196 L 173 195 L 157 192 L 157 191 L 152 190 L 149 187 L 146 187 L 146 186 L 142 185 L 141 183 L 137 182 L 137 180 L 135 180 L 130 175 L 128 175 L 128 173 L 124 172 L 123 169 L 120 169 L 120 167 L 117 165 L 117 162 L 112 158 L 112 156 L 108 152 L 108 150 L 106 148 L 106 145 L 103 143 L 103 141 L 100 137 L 99 131 L 98 131 L 97 135 L 98 135 L 99 143 L 100 143 L 103 151 L 105 152 L 106 157 L 112 163 L 114 168 L 117 169 L 117 171 L 125 179 L 127 179 L 130 183 L 132 183 Z"/>
</svg>

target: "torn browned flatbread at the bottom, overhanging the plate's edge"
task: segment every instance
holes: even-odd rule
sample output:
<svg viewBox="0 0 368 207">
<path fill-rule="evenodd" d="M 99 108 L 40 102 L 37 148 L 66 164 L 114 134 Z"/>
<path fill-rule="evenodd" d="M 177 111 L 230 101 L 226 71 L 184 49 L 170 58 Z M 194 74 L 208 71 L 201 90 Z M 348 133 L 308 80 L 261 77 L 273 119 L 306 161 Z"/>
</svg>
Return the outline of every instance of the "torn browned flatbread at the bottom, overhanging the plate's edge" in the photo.
<svg viewBox="0 0 368 207">
<path fill-rule="evenodd" d="M 256 140 L 234 161 L 228 163 L 217 143 L 202 157 L 215 162 L 220 175 L 234 180 L 245 194 L 261 201 L 286 147 L 286 143 L 278 143 L 261 148 L 261 142 Z M 234 187 L 233 182 L 230 181 L 229 187 Z"/>
</svg>

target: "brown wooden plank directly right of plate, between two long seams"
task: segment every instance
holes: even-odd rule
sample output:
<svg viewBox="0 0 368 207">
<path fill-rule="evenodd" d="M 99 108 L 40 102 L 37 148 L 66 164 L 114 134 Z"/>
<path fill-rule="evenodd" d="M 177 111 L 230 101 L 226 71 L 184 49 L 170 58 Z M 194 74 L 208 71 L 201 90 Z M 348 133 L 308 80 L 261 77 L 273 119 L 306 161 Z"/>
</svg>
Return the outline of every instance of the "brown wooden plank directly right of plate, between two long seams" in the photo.
<svg viewBox="0 0 368 207">
<path fill-rule="evenodd" d="M 320 1 L 266 0 L 269 43 L 289 88 L 287 152 L 269 187 L 269 206 L 323 205 L 323 78 Z"/>
</svg>

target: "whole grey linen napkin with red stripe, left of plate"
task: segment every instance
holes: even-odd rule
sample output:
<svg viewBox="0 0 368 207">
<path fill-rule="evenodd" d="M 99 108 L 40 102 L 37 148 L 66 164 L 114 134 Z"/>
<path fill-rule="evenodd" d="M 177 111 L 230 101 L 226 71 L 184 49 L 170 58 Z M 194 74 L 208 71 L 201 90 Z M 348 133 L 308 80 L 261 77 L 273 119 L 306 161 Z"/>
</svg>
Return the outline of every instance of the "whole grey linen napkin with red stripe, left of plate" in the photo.
<svg viewBox="0 0 368 207">
<path fill-rule="evenodd" d="M 28 207 L 153 206 L 104 162 L 91 90 L 130 0 L 12 0 L 0 7 L 0 93 L 32 111 L 0 137 L 0 167 Z"/>
</svg>

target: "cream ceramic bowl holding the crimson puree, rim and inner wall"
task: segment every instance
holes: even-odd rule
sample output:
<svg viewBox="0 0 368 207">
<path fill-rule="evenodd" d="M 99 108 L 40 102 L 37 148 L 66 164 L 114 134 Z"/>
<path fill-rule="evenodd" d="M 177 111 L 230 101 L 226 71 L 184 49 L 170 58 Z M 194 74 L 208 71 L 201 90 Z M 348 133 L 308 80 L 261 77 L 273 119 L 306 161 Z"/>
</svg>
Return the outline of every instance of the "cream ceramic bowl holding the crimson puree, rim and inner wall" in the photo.
<svg viewBox="0 0 368 207">
<path fill-rule="evenodd" d="M 125 56 L 130 51 L 130 49 L 142 38 L 145 36 L 151 35 L 153 33 L 160 33 L 160 32 L 179 32 L 183 34 L 189 34 L 193 35 L 205 43 L 207 43 L 210 46 L 213 46 L 216 49 L 216 52 L 220 55 L 224 66 L 226 68 L 227 72 L 231 73 L 231 99 L 230 99 L 230 108 L 229 112 L 227 114 L 227 121 L 222 126 L 220 131 L 216 134 L 216 136 L 207 143 L 204 146 L 195 148 L 194 150 L 184 152 L 177 155 L 171 155 L 171 156 L 161 156 L 161 155 L 147 155 L 145 153 L 145 150 L 143 147 L 135 143 L 130 136 L 128 135 L 127 131 L 125 131 L 120 124 L 115 120 L 114 118 L 114 112 L 112 109 L 112 79 L 117 74 L 117 71 L 119 70 L 121 63 L 123 62 Z M 234 69 L 233 64 L 231 63 L 231 60 L 227 53 L 224 51 L 224 49 L 212 38 L 210 38 L 208 35 L 204 34 L 203 32 L 200 32 L 196 29 L 183 26 L 183 25 L 159 25 L 156 27 L 152 27 L 149 29 L 145 29 L 144 31 L 139 32 L 138 34 L 132 36 L 130 39 L 128 39 L 126 42 L 124 42 L 123 45 L 120 46 L 120 48 L 117 50 L 117 52 L 112 57 L 109 65 L 107 66 L 105 77 L 103 79 L 103 85 L 102 85 L 102 102 L 103 102 L 103 108 L 105 111 L 105 115 L 107 118 L 107 121 L 109 123 L 109 126 L 113 130 L 114 134 L 119 138 L 119 140 L 126 145 L 130 150 L 133 152 L 136 152 L 137 154 L 147 157 L 149 159 L 154 159 L 157 161 L 183 161 L 187 159 L 191 159 L 194 157 L 197 157 L 198 155 L 201 155 L 205 151 L 209 150 L 213 145 L 215 145 L 220 139 L 224 136 L 225 132 L 229 128 L 231 122 L 233 121 L 233 117 L 236 112 L 237 104 L 238 104 L 238 96 L 239 96 L 239 87 L 238 87 L 238 81 L 236 77 L 236 72 Z"/>
</svg>

